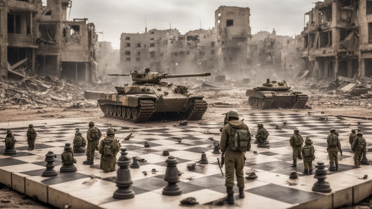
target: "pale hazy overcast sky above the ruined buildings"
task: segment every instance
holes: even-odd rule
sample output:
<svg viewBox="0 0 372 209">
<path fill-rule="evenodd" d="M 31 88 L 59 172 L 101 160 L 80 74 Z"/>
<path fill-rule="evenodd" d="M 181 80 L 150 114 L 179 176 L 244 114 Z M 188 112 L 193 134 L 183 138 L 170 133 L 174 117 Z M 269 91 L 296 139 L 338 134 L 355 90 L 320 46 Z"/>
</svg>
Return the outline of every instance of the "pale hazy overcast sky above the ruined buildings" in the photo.
<svg viewBox="0 0 372 209">
<path fill-rule="evenodd" d="M 148 29 L 189 30 L 214 26 L 214 12 L 219 6 L 250 7 L 252 34 L 260 30 L 278 35 L 295 35 L 304 27 L 304 13 L 314 0 L 73 0 L 70 20 L 87 17 L 96 31 L 104 32 L 104 41 L 120 48 L 120 35 L 142 33 L 145 15 Z M 102 35 L 99 41 L 102 41 Z"/>
</svg>

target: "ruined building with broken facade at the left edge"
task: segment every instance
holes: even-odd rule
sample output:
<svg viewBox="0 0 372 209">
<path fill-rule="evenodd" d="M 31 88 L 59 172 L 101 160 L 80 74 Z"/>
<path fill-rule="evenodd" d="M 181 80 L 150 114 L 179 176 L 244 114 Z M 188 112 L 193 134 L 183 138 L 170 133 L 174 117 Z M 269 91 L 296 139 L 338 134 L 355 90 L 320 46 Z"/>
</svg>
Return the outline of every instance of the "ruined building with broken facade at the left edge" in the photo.
<svg viewBox="0 0 372 209">
<path fill-rule="evenodd" d="M 87 19 L 67 20 L 71 0 L 3 0 L 0 80 L 47 74 L 94 82 L 97 36 Z M 6 49 L 6 50 L 5 50 Z"/>
</svg>

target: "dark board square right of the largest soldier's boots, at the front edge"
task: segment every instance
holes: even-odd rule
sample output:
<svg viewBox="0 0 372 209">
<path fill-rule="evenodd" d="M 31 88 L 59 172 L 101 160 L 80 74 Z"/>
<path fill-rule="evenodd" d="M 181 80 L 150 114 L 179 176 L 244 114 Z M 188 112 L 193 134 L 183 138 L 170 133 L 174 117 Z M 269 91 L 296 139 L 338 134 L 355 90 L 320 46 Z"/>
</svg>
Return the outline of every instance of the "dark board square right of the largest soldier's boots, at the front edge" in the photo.
<svg viewBox="0 0 372 209">
<path fill-rule="evenodd" d="M 324 196 L 324 194 L 319 194 L 315 192 L 305 192 L 302 190 L 279 186 L 276 184 L 267 184 L 265 186 L 248 189 L 246 191 L 260 196 L 268 197 L 274 200 L 279 200 L 281 202 L 286 202 L 289 204 L 296 203 L 301 204 Z"/>
</svg>

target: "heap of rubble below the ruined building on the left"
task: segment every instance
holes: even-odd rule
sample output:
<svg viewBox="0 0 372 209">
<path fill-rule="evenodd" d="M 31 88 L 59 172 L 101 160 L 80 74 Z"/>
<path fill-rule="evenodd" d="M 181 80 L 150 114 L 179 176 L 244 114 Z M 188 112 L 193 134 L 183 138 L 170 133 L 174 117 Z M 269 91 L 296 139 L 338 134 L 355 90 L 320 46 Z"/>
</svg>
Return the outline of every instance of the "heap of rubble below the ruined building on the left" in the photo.
<svg viewBox="0 0 372 209">
<path fill-rule="evenodd" d="M 97 107 L 96 102 L 84 100 L 84 86 L 73 81 L 56 80 L 49 75 L 25 77 L 20 81 L 1 83 L 0 108 L 20 106 L 83 108 Z"/>
</svg>

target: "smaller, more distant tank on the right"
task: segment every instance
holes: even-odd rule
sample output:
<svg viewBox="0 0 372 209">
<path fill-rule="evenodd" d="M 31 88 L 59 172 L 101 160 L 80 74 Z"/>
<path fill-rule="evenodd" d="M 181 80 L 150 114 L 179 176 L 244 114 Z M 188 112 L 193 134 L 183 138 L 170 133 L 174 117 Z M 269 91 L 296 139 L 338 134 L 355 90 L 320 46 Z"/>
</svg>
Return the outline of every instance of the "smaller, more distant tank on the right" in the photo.
<svg viewBox="0 0 372 209">
<path fill-rule="evenodd" d="M 299 108 L 305 107 L 308 96 L 298 91 L 290 90 L 287 82 L 270 81 L 267 79 L 262 86 L 248 89 L 246 96 L 253 107 L 261 109 L 270 108 Z"/>
</svg>

